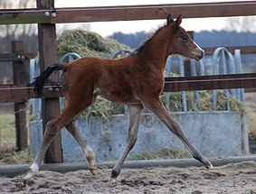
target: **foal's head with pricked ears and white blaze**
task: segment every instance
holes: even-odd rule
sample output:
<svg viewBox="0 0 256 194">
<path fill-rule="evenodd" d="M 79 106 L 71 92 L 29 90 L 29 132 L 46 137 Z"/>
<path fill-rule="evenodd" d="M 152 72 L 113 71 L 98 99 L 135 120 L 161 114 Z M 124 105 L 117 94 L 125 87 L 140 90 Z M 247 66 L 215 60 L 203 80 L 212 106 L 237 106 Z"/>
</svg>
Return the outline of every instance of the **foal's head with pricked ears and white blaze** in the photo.
<svg viewBox="0 0 256 194">
<path fill-rule="evenodd" d="M 204 51 L 190 38 L 184 28 L 180 26 L 182 15 L 174 21 L 171 14 L 167 17 L 167 26 L 173 33 L 173 40 L 170 46 L 170 54 L 180 54 L 194 60 L 201 60 L 204 57 Z"/>
</svg>

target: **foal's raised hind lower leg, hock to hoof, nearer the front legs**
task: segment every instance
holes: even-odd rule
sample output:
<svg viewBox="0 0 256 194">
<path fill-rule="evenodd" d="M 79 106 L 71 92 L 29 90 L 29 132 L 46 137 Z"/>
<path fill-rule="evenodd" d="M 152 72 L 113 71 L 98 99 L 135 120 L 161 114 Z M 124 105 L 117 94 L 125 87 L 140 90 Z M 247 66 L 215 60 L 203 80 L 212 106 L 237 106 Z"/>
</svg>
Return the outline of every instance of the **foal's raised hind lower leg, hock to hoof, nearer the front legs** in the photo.
<svg viewBox="0 0 256 194">
<path fill-rule="evenodd" d="M 72 121 L 69 125 L 66 125 L 66 129 L 72 134 L 72 136 L 75 138 L 75 140 L 81 145 L 82 151 L 85 153 L 86 158 L 89 162 L 90 166 L 90 172 L 93 175 L 96 175 L 96 164 L 95 164 L 95 155 L 94 152 L 90 149 L 90 146 L 84 141 L 84 139 L 81 137 L 81 134 L 76 129 L 74 125 L 74 121 Z"/>
</svg>

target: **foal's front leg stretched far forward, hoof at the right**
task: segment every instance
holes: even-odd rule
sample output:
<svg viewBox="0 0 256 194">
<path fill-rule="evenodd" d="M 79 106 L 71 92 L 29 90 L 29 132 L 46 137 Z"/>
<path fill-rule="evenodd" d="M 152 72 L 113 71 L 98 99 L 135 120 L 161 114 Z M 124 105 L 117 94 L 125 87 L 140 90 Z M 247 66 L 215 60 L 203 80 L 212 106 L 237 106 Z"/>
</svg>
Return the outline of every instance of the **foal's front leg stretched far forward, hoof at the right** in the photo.
<svg viewBox="0 0 256 194">
<path fill-rule="evenodd" d="M 194 159 L 204 163 L 207 169 L 213 168 L 211 162 L 209 162 L 201 152 L 198 152 L 194 146 L 188 141 L 185 134 L 183 134 L 180 126 L 177 124 L 172 115 L 168 113 L 165 106 L 161 103 L 159 98 L 152 98 L 144 102 L 147 109 L 151 110 L 168 128 L 173 132 L 188 148 L 189 152 L 193 155 Z"/>
</svg>

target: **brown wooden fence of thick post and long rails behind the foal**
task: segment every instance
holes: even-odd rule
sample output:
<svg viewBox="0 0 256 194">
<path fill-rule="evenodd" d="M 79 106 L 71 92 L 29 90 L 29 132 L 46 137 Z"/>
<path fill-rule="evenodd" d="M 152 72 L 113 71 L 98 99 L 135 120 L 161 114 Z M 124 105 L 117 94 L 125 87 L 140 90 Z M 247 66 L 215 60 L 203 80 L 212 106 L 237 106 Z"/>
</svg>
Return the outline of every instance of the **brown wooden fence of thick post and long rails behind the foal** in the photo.
<svg viewBox="0 0 256 194">
<path fill-rule="evenodd" d="M 184 18 L 256 15 L 256 1 L 178 5 L 128 5 L 109 7 L 54 8 L 53 0 L 37 0 L 36 9 L 0 10 L 0 24 L 38 23 L 41 70 L 57 62 L 55 23 L 90 23 L 165 19 L 167 14 Z M 238 48 L 239 49 L 239 48 Z M 248 48 L 246 49 L 249 50 Z M 250 53 L 254 52 L 250 51 Z M 206 51 L 212 52 L 211 50 Z M 50 82 L 56 82 L 51 76 Z M 51 88 L 49 90 L 49 88 Z M 256 74 L 166 79 L 165 91 L 219 88 L 256 88 Z M 60 114 L 59 88 L 46 86 L 43 96 L 43 128 Z M 0 86 L 1 102 L 25 102 L 36 97 L 28 84 Z M 52 142 L 46 162 L 62 162 L 61 135 Z"/>
</svg>

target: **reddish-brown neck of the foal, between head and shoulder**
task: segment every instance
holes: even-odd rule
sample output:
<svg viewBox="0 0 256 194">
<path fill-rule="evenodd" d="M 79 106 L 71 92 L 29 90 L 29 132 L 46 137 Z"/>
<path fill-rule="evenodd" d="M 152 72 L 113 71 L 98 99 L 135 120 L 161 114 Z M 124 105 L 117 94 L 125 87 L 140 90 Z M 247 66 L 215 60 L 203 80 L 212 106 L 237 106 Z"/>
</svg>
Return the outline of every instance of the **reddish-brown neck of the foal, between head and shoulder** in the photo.
<svg viewBox="0 0 256 194">
<path fill-rule="evenodd" d="M 166 60 L 169 55 L 171 32 L 163 27 L 147 42 L 145 48 L 138 54 L 138 58 L 145 65 L 154 65 L 162 72 L 166 69 Z"/>
</svg>

